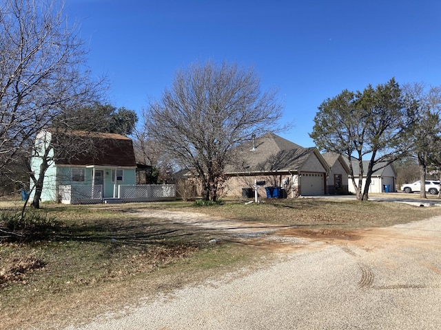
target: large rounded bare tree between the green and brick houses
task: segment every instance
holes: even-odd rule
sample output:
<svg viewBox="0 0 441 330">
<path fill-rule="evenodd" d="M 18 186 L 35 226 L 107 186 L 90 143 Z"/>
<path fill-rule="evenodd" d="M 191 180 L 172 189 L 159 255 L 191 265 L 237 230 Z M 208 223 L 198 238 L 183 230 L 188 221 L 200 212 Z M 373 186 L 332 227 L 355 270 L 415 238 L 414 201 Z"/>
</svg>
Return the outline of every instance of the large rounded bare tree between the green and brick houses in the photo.
<svg viewBox="0 0 441 330">
<path fill-rule="evenodd" d="M 253 134 L 280 129 L 276 95 L 260 91 L 251 68 L 196 63 L 179 70 L 161 100 L 150 104 L 148 133 L 201 180 L 203 199 L 216 201 L 234 148 Z"/>
</svg>

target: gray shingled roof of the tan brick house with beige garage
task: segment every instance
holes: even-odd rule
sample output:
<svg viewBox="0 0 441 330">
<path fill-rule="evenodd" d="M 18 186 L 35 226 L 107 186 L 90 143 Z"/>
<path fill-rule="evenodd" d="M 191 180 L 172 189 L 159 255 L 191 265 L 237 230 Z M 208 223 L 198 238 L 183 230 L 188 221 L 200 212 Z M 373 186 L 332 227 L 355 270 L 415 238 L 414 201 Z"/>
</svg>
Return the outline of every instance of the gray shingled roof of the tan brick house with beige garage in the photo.
<svg viewBox="0 0 441 330">
<path fill-rule="evenodd" d="M 283 172 L 302 168 L 317 149 L 303 148 L 274 133 L 256 138 L 255 144 L 249 142 L 236 151 L 236 164 L 227 166 L 226 173 Z"/>
</svg>

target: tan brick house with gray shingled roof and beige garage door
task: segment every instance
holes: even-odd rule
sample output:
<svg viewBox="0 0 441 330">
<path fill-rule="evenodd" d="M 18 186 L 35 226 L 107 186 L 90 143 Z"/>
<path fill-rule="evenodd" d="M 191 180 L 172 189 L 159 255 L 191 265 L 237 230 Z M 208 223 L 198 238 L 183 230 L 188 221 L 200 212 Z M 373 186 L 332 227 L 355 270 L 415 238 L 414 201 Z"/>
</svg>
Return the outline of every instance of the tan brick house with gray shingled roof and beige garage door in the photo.
<svg viewBox="0 0 441 330">
<path fill-rule="evenodd" d="M 255 181 L 265 181 L 260 195 L 265 187 L 280 188 L 287 197 L 327 193 L 329 166 L 315 147 L 303 148 L 267 133 L 240 146 L 234 158 L 225 169 L 227 195 L 245 197 Z"/>
</svg>

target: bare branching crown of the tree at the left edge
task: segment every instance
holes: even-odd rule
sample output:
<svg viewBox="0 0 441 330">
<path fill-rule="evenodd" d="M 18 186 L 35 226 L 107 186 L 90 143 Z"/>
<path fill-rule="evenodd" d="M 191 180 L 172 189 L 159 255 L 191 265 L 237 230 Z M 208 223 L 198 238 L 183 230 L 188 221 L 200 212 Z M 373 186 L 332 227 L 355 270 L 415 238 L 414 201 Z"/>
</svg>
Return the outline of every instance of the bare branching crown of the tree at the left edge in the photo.
<svg viewBox="0 0 441 330">
<path fill-rule="evenodd" d="M 37 132 L 66 109 L 101 98 L 75 27 L 54 2 L 5 0 L 0 5 L 0 170 L 32 153 Z"/>
</svg>

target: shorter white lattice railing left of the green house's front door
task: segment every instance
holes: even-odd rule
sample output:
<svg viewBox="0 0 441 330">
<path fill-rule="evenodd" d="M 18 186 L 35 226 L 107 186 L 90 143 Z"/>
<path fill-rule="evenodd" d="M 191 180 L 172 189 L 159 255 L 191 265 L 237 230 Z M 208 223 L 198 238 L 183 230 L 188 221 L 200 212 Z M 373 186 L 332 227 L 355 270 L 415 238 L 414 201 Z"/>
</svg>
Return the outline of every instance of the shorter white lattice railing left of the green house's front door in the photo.
<svg viewBox="0 0 441 330">
<path fill-rule="evenodd" d="M 103 202 L 103 186 L 59 186 L 63 204 L 97 204 Z"/>
</svg>

